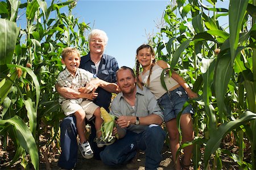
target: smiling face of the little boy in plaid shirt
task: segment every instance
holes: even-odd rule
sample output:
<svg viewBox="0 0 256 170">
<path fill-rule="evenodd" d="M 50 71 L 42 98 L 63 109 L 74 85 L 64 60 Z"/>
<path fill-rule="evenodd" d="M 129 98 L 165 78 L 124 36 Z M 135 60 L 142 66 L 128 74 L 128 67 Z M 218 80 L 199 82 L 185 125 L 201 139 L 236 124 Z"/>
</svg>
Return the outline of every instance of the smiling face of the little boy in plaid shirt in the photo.
<svg viewBox="0 0 256 170">
<path fill-rule="evenodd" d="M 76 70 L 80 65 L 80 57 L 75 52 L 70 52 L 61 59 L 61 62 L 65 64 L 68 71 L 72 74 L 76 74 Z"/>
</svg>

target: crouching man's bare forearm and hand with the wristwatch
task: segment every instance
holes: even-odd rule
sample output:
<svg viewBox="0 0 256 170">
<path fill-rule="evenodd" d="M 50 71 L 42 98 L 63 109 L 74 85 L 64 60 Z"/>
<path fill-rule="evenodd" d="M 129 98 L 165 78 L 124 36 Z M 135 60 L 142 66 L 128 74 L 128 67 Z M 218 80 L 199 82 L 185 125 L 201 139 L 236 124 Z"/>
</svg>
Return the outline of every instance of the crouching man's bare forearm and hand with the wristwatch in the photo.
<svg viewBox="0 0 256 170">
<path fill-rule="evenodd" d="M 117 119 L 117 124 L 121 128 L 126 128 L 130 124 L 135 124 L 137 118 L 136 116 L 120 116 Z M 157 124 L 161 125 L 163 122 L 162 118 L 156 114 L 150 114 L 145 117 L 139 117 L 139 125 L 151 125 L 151 124 Z"/>
</svg>

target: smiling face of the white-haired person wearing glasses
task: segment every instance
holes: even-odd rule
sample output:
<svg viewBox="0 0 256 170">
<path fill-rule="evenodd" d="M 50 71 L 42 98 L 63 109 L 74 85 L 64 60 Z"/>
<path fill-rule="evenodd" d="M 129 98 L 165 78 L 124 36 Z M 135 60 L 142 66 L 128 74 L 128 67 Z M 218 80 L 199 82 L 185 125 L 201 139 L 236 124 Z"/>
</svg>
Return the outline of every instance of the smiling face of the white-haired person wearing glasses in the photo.
<svg viewBox="0 0 256 170">
<path fill-rule="evenodd" d="M 103 54 L 106 46 L 106 41 L 101 35 L 94 35 L 90 37 L 89 47 L 90 53 Z"/>
</svg>

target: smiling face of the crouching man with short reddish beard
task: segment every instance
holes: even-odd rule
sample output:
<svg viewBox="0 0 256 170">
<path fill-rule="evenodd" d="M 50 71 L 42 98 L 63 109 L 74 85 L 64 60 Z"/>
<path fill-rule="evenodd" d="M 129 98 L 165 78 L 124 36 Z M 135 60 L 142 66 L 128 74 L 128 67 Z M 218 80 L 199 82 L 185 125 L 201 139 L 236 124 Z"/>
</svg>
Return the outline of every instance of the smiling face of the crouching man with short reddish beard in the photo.
<svg viewBox="0 0 256 170">
<path fill-rule="evenodd" d="M 136 79 L 131 70 L 118 70 L 117 84 L 123 95 L 131 95 L 136 90 Z"/>
</svg>

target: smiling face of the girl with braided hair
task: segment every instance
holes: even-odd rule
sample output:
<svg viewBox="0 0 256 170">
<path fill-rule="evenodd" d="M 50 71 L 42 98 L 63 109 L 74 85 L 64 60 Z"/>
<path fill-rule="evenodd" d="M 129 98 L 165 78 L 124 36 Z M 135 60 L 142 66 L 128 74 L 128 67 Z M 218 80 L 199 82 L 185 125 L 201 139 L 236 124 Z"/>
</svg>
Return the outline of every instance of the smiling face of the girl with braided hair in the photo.
<svg viewBox="0 0 256 170">
<path fill-rule="evenodd" d="M 137 59 L 141 63 L 143 69 L 149 69 L 155 56 L 152 54 L 150 48 L 142 48 L 138 51 Z"/>
</svg>

